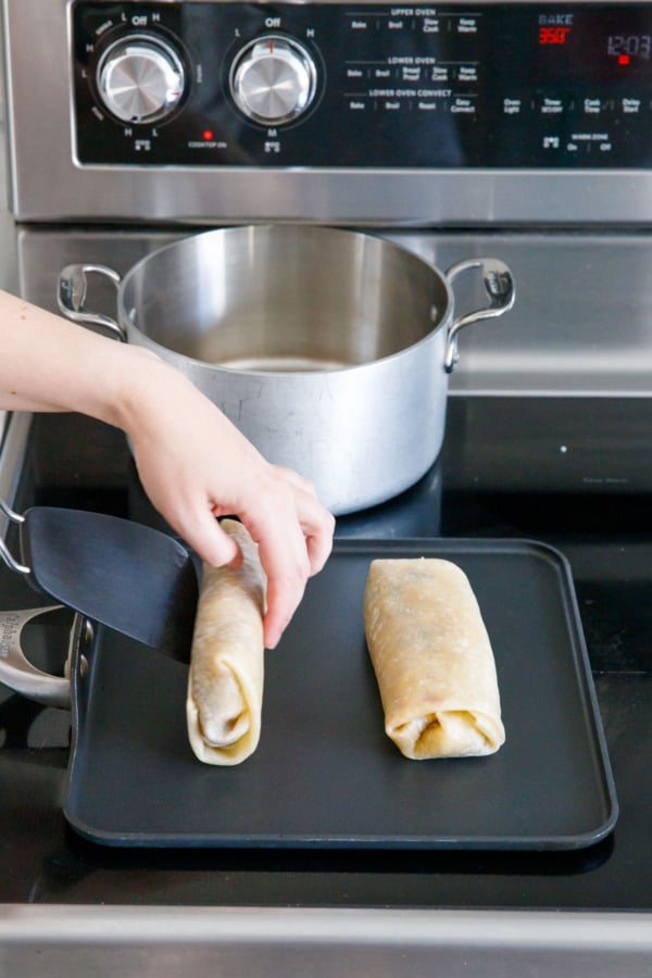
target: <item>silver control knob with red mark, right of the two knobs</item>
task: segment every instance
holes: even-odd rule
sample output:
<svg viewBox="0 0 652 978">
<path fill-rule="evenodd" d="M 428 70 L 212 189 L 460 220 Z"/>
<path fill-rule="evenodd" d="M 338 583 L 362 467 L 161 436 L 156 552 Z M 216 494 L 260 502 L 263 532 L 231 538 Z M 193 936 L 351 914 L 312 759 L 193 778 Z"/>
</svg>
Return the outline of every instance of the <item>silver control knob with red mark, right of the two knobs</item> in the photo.
<svg viewBox="0 0 652 978">
<path fill-rule="evenodd" d="M 238 109 L 253 122 L 280 125 L 297 118 L 315 97 L 317 71 L 299 41 L 266 35 L 242 48 L 230 72 Z"/>
</svg>

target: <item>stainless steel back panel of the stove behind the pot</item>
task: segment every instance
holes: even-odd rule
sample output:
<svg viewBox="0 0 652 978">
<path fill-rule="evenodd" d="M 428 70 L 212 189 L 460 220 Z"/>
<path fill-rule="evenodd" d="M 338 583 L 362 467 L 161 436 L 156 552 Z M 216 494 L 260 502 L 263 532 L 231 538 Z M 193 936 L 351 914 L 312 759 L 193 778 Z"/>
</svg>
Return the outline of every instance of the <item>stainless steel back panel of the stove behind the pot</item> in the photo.
<svg viewBox="0 0 652 978">
<path fill-rule="evenodd" d="M 92 261 L 121 275 L 184 233 L 20 228 L 21 291 L 57 310 L 58 273 Z M 187 234 L 187 231 L 186 231 Z M 439 268 L 497 254 L 512 269 L 518 299 L 503 319 L 468 329 L 449 380 L 450 394 L 527 397 L 650 397 L 652 394 L 652 239 L 636 231 L 604 234 L 391 231 L 404 248 Z M 61 266 L 52 268 L 57 254 Z M 609 301 L 603 289 L 609 285 Z M 460 312 L 482 298 L 455 291 Z M 93 303 L 115 315 L 115 290 L 93 284 Z"/>
</svg>

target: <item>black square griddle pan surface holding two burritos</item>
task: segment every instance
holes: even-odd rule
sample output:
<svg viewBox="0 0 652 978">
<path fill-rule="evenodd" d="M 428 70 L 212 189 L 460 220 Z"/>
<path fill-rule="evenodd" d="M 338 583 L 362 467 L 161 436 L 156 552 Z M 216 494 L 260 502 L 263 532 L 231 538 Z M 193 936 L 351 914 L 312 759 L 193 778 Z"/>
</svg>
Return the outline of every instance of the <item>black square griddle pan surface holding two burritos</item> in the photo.
<svg viewBox="0 0 652 978">
<path fill-rule="evenodd" d="M 488 757 L 409 761 L 384 732 L 364 639 L 374 557 L 437 556 L 468 575 L 496 656 L 506 741 Z M 266 653 L 260 745 L 201 764 L 187 668 L 109 629 L 75 684 L 65 815 L 139 847 L 579 849 L 617 804 L 565 559 L 503 540 L 343 540 Z"/>
</svg>

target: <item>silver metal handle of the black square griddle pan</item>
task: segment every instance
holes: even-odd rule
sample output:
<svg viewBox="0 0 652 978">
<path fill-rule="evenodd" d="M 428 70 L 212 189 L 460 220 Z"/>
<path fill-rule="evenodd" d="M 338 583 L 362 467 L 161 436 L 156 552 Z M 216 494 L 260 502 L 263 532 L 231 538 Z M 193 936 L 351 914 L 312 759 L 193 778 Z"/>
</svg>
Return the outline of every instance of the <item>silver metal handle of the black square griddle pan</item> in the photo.
<svg viewBox="0 0 652 978">
<path fill-rule="evenodd" d="M 26 657 L 21 645 L 21 635 L 28 622 L 63 607 L 63 604 L 51 604 L 46 607 L 0 612 L 0 682 L 37 703 L 70 709 L 71 660 L 79 645 L 82 630 L 90 625 L 88 619 L 79 614 L 74 616 L 64 676 L 52 676 L 37 668 Z"/>
</svg>

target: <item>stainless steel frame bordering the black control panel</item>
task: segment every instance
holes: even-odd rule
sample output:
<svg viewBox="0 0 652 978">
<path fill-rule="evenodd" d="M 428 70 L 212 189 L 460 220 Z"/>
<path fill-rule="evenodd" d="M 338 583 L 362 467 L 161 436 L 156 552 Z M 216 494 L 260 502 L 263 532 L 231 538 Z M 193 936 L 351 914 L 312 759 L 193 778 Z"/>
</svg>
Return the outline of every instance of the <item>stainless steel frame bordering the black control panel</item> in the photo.
<svg viewBox="0 0 652 978">
<path fill-rule="evenodd" d="M 484 2 L 478 0 L 476 7 Z M 13 39 L 11 49 L 5 48 L 10 203 L 21 221 L 226 224 L 290 220 L 477 227 L 512 223 L 643 226 L 652 220 L 649 170 L 449 167 L 399 173 L 347 166 L 79 165 L 71 151 L 72 67 L 64 57 L 71 2 L 2 0 L 2 7 L 5 38 L 11 34 Z M 52 57 L 45 58 L 43 51 Z"/>
</svg>

